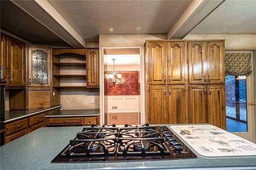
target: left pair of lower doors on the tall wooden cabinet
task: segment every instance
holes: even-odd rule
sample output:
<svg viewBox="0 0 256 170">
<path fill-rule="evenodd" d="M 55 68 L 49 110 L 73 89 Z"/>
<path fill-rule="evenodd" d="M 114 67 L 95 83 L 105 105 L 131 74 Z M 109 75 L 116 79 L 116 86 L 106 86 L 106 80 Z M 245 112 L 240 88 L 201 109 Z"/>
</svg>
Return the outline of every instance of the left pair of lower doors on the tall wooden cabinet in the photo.
<svg viewBox="0 0 256 170">
<path fill-rule="evenodd" d="M 186 123 L 185 86 L 150 86 L 148 102 L 148 123 Z"/>
</svg>

